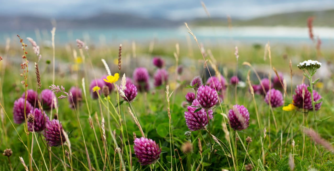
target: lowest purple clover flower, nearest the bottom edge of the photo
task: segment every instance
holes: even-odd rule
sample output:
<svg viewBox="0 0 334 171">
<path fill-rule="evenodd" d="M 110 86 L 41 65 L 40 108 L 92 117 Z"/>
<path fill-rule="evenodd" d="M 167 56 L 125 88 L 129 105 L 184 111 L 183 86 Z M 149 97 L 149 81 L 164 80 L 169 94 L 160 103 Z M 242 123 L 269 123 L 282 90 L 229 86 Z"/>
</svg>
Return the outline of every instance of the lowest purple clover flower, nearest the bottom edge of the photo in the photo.
<svg viewBox="0 0 334 171">
<path fill-rule="evenodd" d="M 140 165 L 155 163 L 160 158 L 161 148 L 152 139 L 136 138 L 133 149 Z"/>
</svg>

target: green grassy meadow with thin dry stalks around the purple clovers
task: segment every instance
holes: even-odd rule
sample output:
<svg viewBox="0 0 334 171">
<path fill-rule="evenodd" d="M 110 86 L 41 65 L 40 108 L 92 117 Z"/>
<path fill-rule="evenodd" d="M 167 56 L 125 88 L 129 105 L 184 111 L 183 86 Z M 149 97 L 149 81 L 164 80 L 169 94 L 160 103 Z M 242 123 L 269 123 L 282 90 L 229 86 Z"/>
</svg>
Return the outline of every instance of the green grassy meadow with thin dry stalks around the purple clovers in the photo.
<svg viewBox="0 0 334 171">
<path fill-rule="evenodd" d="M 20 66 L 25 63 L 21 57 L 25 51 L 19 38 L 0 49 L 3 59 L 0 61 L 0 149 L 12 150 L 9 157 L 0 157 L 0 170 L 24 170 L 19 157 L 22 157 L 28 170 L 334 169 L 330 143 L 334 140 L 331 125 L 333 77 L 326 75 L 331 75 L 330 68 L 323 70 L 333 59 L 331 49 L 320 52 L 313 46 L 281 45 L 270 48 L 244 45 L 238 47 L 239 58 L 236 60 L 233 45 L 220 47 L 204 44 L 201 51 L 194 40 L 190 44 L 176 46 L 177 42 L 160 42 L 154 46 L 137 45 L 136 48 L 125 43 L 122 45 L 119 70 L 118 46 L 89 47 L 88 50 L 85 46 L 78 49 L 75 42 L 70 42 L 70 45 L 56 44 L 55 49 L 41 46 L 42 57 L 38 61 L 28 40 L 24 39 L 23 43 L 27 44 L 27 73 Z M 152 64 L 154 56 L 161 56 L 165 63 L 163 69 L 168 72 L 166 84 L 154 86 L 154 74 L 158 70 Z M 124 73 L 132 79 L 135 68 L 145 67 L 150 76 L 149 91 L 138 91 L 131 103 L 119 96 L 116 88 L 110 92 L 110 98 L 102 93 L 98 99 L 93 99 L 91 81 L 108 75 L 101 59 L 106 60 L 112 76 L 119 73 L 120 78 L 115 82 L 119 86 Z M 282 107 L 292 103 L 296 85 L 302 81 L 309 85 L 309 80 L 303 79 L 303 71 L 297 67 L 300 62 L 309 59 L 323 63 L 313 77 L 313 81 L 321 78 L 313 85 L 322 96 L 321 108 L 315 112 L 298 107 L 285 111 Z M 39 68 L 40 88 L 37 88 L 34 62 Z M 176 73 L 178 66 L 183 66 L 182 73 Z M 195 93 L 193 88 L 189 88 L 195 76 L 199 75 L 204 84 L 211 79 L 207 68 L 212 76 L 220 73 L 225 78 L 226 84 L 222 86 L 226 89 L 218 92 L 223 99 L 212 109 L 210 124 L 205 129 L 190 131 L 184 117 L 189 106 L 184 104 L 185 95 Z M 244 83 L 238 86 L 229 84 L 236 68 L 240 82 Z M 253 96 L 248 84 L 259 85 L 256 73 L 259 73 L 260 79 L 269 78 L 271 81 L 275 76 L 273 68 L 284 74 L 282 83 L 287 85 L 286 89 L 278 89 L 284 95 L 284 104 L 275 108 L 265 102 L 264 95 L 255 93 Z M 322 74 L 325 71 L 325 75 L 317 75 L 320 70 Z M 26 74 L 26 80 L 20 76 L 22 73 Z M 27 86 L 21 81 L 25 81 Z M 29 132 L 26 118 L 22 124 L 13 122 L 14 101 L 24 94 L 25 89 L 33 89 L 40 94 L 41 90 L 50 89 L 51 84 L 64 87 L 64 90 L 60 88 L 57 97 L 66 95 L 64 91 L 68 92 L 72 86 L 82 90 L 82 100 L 78 104 L 74 102 L 75 110 L 70 107 L 70 97 L 58 98 L 55 109 L 45 109 L 50 120 L 58 119 L 67 134 L 64 143 L 57 147 L 47 147 L 43 133 Z M 248 109 L 249 126 L 244 130 L 235 131 L 230 127 L 227 115 L 235 104 Z M 131 113 L 135 116 L 132 117 Z M 159 159 L 153 161 L 155 164 L 141 166 L 135 155 L 134 134 L 140 138 L 142 133 L 161 148 Z M 249 143 L 246 142 L 248 136 L 252 142 L 249 139 Z"/>
</svg>

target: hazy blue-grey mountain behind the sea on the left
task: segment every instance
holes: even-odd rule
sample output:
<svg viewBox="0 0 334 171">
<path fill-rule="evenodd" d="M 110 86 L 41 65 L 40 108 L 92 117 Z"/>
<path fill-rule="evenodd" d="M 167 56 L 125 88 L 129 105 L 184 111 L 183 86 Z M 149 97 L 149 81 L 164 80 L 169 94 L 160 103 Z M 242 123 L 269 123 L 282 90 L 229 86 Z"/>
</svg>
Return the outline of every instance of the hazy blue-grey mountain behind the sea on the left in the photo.
<svg viewBox="0 0 334 171">
<path fill-rule="evenodd" d="M 51 19 L 18 16 L 0 16 L 0 30 L 33 30 L 52 28 Z M 103 13 L 97 16 L 82 19 L 58 19 L 56 20 L 57 29 L 94 29 L 94 28 L 145 28 L 145 27 L 175 27 L 182 25 L 182 22 L 168 19 L 144 18 L 132 14 L 111 14 Z"/>
</svg>

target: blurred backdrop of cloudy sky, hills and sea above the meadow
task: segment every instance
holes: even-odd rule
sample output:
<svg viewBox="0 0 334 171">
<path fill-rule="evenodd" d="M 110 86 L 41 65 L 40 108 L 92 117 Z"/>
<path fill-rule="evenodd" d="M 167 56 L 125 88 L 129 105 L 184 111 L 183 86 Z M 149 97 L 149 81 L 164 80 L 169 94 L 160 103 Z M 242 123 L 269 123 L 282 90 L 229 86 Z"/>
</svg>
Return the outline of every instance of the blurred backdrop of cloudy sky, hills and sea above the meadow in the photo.
<svg viewBox="0 0 334 171">
<path fill-rule="evenodd" d="M 0 6 L 0 44 L 19 34 L 38 44 L 84 40 L 89 45 L 187 41 L 187 22 L 198 40 L 233 44 L 305 45 L 307 19 L 324 47 L 333 46 L 332 0 L 12 0 Z M 205 7 L 204 7 L 205 6 Z M 215 44 L 215 43 L 211 43 Z"/>
</svg>

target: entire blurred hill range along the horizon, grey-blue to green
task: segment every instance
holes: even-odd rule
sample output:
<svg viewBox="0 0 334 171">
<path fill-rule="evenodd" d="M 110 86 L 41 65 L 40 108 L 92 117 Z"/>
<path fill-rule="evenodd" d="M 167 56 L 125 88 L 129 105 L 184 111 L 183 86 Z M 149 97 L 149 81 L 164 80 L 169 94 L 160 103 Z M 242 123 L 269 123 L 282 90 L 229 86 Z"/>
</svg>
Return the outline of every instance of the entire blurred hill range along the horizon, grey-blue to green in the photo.
<svg viewBox="0 0 334 171">
<path fill-rule="evenodd" d="M 232 17 L 232 26 L 300 26 L 306 27 L 308 17 L 314 16 L 314 26 L 334 26 L 334 10 L 293 12 L 239 20 Z M 226 18 L 197 18 L 173 21 L 163 18 L 145 18 L 133 14 L 102 13 L 100 15 L 73 19 L 56 20 L 57 29 L 94 29 L 94 28 L 162 28 L 178 27 L 183 22 L 190 26 L 227 26 Z M 0 30 L 51 29 L 51 19 L 33 16 L 0 16 Z"/>
</svg>

